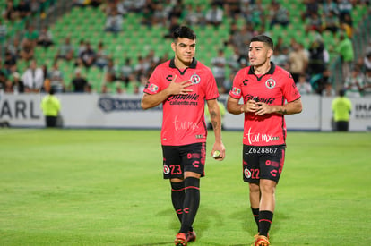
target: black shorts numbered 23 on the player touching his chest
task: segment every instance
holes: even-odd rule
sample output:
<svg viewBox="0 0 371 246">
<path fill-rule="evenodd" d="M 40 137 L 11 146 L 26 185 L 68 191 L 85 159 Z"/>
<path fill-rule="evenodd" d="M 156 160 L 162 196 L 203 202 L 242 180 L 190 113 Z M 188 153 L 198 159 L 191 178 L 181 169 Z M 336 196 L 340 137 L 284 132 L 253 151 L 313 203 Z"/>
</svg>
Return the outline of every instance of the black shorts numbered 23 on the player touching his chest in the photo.
<svg viewBox="0 0 371 246">
<path fill-rule="evenodd" d="M 204 176 L 206 143 L 162 146 L 164 179 L 183 179 L 185 172 Z"/>
</svg>

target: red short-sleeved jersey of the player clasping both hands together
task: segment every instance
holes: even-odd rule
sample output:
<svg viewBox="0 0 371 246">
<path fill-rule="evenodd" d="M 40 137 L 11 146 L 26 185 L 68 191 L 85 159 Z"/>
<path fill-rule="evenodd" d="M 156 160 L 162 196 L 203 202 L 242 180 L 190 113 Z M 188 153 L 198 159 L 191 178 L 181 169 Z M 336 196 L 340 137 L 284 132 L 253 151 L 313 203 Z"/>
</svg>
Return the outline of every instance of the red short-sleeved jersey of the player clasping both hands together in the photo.
<svg viewBox="0 0 371 246">
<path fill-rule="evenodd" d="M 244 103 L 255 100 L 268 105 L 284 105 L 300 98 L 300 93 L 289 72 L 271 62 L 271 69 L 263 75 L 256 75 L 248 66 L 237 72 L 229 97 Z M 250 146 L 285 145 L 286 123 L 284 115 L 255 115 L 245 113 L 243 143 Z"/>
</svg>

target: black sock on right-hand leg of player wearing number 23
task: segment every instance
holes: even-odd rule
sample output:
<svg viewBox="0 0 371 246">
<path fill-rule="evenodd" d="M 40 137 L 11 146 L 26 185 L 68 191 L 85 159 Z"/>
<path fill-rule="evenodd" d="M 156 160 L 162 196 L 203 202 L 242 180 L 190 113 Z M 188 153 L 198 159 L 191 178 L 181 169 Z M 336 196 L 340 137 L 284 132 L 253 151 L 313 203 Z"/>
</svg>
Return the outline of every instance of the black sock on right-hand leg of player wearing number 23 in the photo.
<svg viewBox="0 0 371 246">
<path fill-rule="evenodd" d="M 200 205 L 200 179 L 194 177 L 186 178 L 185 189 L 186 198 L 179 233 L 187 233 L 194 224 L 194 218 Z"/>
</svg>

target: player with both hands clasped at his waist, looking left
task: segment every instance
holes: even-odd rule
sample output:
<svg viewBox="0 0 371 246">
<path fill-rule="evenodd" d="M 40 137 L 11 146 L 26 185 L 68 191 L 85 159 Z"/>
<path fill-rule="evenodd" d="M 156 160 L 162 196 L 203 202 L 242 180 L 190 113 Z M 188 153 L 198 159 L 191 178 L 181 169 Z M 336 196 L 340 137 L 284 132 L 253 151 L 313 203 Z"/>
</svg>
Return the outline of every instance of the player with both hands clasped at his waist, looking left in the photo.
<svg viewBox="0 0 371 246">
<path fill-rule="evenodd" d="M 272 38 L 259 35 L 251 39 L 250 66 L 237 72 L 227 103 L 229 113 L 245 114 L 243 179 L 249 182 L 250 205 L 258 226 L 255 245 L 263 246 L 270 245 L 274 193 L 285 158 L 284 115 L 302 110 L 291 74 L 271 62 L 272 54 Z"/>
</svg>

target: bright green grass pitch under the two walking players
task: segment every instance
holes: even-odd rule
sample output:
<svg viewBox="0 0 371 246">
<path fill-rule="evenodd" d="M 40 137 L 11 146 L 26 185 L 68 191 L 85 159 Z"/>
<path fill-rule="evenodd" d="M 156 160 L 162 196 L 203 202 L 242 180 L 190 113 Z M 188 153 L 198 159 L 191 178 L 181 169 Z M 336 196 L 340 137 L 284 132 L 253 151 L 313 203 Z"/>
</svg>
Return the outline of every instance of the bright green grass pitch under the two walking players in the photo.
<svg viewBox="0 0 371 246">
<path fill-rule="evenodd" d="M 242 132 L 223 141 L 189 245 L 250 245 L 256 231 Z M 289 132 L 287 143 L 272 245 L 369 245 L 371 133 Z M 160 131 L 0 129 L 0 168 L 0 245 L 173 245 Z"/>
</svg>

